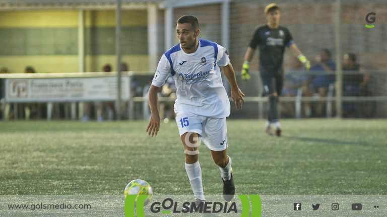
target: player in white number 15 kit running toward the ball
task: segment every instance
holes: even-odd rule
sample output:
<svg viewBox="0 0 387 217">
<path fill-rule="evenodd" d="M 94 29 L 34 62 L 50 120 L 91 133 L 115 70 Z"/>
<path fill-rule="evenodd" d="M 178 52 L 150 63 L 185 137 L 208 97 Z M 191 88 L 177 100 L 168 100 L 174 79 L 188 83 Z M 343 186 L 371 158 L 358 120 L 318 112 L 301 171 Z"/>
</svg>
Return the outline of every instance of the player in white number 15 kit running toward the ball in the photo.
<svg viewBox="0 0 387 217">
<path fill-rule="evenodd" d="M 219 166 L 223 181 L 223 196 L 230 201 L 235 194 L 231 158 L 227 155 L 226 117 L 230 115 L 230 101 L 222 83 L 219 66 L 231 87 L 231 97 L 237 109 L 242 107 L 244 94 L 235 79 L 227 50 L 211 41 L 199 39 L 199 22 L 194 16 L 182 16 L 177 21 L 179 44 L 161 57 L 149 89 L 151 119 L 149 135 L 157 135 L 160 117 L 157 110 L 157 92 L 168 75 L 176 84 L 174 104 L 176 123 L 184 146 L 185 170 L 195 201 L 205 200 L 202 170 L 199 164 L 200 140 L 211 150 Z"/>
</svg>

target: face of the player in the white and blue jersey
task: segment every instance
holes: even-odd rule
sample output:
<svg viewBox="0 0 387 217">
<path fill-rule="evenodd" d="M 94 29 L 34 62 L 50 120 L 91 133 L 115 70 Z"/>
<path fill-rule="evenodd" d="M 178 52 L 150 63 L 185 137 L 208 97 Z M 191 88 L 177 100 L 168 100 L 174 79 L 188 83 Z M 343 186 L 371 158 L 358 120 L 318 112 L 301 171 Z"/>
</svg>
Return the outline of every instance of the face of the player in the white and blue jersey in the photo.
<svg viewBox="0 0 387 217">
<path fill-rule="evenodd" d="M 200 31 L 195 31 L 190 23 L 178 23 L 176 26 L 177 39 L 183 50 L 192 50 L 196 48 L 199 33 Z"/>
</svg>

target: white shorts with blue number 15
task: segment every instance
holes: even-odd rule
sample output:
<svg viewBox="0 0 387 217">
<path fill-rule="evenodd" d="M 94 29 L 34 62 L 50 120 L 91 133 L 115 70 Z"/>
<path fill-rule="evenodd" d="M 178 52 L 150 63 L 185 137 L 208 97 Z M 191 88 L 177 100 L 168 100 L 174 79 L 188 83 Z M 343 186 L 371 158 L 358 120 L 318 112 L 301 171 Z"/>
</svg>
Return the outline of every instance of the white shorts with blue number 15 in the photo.
<svg viewBox="0 0 387 217">
<path fill-rule="evenodd" d="M 191 113 L 176 112 L 176 124 L 180 136 L 187 132 L 202 136 L 204 144 L 213 151 L 228 147 L 226 118 L 212 119 Z"/>
</svg>

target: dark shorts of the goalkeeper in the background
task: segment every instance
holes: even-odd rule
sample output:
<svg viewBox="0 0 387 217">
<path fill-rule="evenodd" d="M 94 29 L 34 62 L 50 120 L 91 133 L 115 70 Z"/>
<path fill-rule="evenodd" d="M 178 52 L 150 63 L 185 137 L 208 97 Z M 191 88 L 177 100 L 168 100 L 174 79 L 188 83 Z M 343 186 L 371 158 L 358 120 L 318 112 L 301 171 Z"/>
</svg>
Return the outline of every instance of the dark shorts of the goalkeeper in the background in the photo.
<svg viewBox="0 0 387 217">
<path fill-rule="evenodd" d="M 260 67 L 260 75 L 264 86 L 263 96 L 272 93 L 281 95 L 284 86 L 284 71 L 281 68 L 270 70 L 270 68 Z"/>
</svg>

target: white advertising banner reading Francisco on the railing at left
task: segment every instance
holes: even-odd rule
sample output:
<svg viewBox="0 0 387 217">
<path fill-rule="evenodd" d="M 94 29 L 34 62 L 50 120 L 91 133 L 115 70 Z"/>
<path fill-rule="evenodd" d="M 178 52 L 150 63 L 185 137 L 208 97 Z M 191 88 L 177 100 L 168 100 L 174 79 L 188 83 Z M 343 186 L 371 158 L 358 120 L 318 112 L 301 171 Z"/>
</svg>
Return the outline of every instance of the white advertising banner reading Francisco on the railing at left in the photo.
<svg viewBox="0 0 387 217">
<path fill-rule="evenodd" d="M 117 78 L 8 78 L 9 102 L 113 101 L 117 97 Z M 121 98 L 129 97 L 129 77 L 121 78 Z"/>
</svg>

